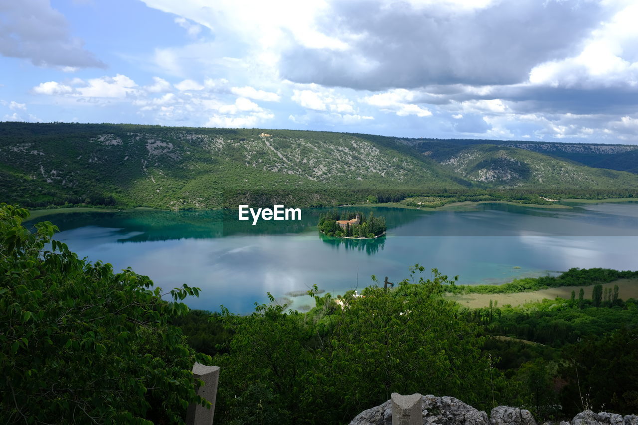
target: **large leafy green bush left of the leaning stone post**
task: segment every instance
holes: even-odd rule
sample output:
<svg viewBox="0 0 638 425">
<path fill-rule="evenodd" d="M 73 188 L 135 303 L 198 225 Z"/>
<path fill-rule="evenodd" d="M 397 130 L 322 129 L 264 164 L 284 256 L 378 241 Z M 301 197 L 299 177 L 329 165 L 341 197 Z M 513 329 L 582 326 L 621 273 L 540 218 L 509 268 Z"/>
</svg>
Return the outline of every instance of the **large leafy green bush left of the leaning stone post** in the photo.
<svg viewBox="0 0 638 425">
<path fill-rule="evenodd" d="M 170 325 L 186 305 L 130 269 L 77 258 L 48 221 L 30 232 L 27 216 L 0 204 L 0 422 L 182 422 L 189 403 L 206 404 L 191 368 L 211 358 Z"/>
</svg>

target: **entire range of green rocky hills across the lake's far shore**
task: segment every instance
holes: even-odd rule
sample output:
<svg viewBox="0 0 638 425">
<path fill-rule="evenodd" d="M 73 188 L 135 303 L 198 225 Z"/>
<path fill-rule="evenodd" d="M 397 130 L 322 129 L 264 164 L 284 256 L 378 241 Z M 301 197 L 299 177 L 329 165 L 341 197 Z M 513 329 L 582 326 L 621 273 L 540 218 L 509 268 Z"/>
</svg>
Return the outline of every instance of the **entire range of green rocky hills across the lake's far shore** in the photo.
<svg viewBox="0 0 638 425">
<path fill-rule="evenodd" d="M 229 199 L 262 192 L 271 193 L 269 200 L 309 206 L 364 200 L 366 190 L 612 192 L 638 187 L 635 174 L 482 142 L 321 131 L 0 123 L 0 200 L 28 207 L 177 209 L 227 206 L 233 203 Z"/>
</svg>

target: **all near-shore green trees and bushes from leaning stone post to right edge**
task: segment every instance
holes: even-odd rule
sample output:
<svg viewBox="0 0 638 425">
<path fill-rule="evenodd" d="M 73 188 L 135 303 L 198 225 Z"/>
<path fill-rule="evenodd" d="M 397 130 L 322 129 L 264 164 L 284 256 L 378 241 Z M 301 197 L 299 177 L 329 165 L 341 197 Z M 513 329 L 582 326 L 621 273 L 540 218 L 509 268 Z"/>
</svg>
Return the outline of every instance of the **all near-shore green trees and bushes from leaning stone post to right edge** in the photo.
<svg viewBox="0 0 638 425">
<path fill-rule="evenodd" d="M 216 420 L 345 423 L 393 391 L 449 394 L 485 410 L 521 406 L 539 420 L 638 409 L 634 299 L 469 309 L 441 299 L 447 276 L 417 276 L 361 296 L 311 291 L 316 307 L 305 314 L 277 304 L 246 317 L 212 314 L 198 333 L 217 342 L 208 354 L 230 381 Z"/>
</svg>

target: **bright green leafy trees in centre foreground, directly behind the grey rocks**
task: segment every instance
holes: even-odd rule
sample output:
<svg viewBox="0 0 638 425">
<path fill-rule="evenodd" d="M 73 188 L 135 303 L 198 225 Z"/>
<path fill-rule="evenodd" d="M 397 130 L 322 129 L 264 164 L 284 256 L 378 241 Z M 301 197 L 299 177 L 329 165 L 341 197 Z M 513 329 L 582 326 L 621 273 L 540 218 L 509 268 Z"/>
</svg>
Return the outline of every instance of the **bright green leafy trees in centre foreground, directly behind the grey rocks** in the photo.
<svg viewBox="0 0 638 425">
<path fill-rule="evenodd" d="M 226 311 L 234 335 L 214 359 L 225 371 L 215 420 L 345 423 L 394 391 L 457 396 L 481 408 L 509 401 L 510 388 L 480 352 L 480 327 L 439 296 L 445 284 L 434 271 L 392 291 L 315 295 L 306 314 L 276 304 L 248 317 Z"/>
</svg>

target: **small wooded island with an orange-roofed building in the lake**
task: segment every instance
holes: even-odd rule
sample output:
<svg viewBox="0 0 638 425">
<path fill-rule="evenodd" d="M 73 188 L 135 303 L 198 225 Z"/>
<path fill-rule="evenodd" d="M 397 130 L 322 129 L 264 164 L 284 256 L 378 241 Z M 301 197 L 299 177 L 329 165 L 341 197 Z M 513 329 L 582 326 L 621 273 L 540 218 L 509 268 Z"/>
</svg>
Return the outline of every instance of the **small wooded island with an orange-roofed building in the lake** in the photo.
<svg viewBox="0 0 638 425">
<path fill-rule="evenodd" d="M 317 227 L 327 236 L 348 239 L 374 239 L 385 235 L 387 230 L 385 218 L 375 217 L 373 213 L 366 217 L 366 214 L 360 211 L 347 213 L 330 211 L 320 214 Z"/>
</svg>

